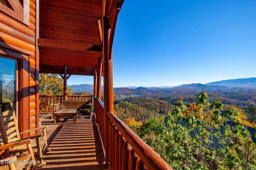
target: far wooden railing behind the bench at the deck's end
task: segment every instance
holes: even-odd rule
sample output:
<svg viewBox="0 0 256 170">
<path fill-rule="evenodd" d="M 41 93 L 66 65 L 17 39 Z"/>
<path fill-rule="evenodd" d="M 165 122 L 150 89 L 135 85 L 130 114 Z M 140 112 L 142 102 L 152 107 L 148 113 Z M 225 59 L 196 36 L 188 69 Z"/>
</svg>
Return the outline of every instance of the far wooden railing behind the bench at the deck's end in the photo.
<svg viewBox="0 0 256 170">
<path fill-rule="evenodd" d="M 67 97 L 68 100 L 85 100 L 92 101 L 91 95 L 69 95 Z M 61 95 L 40 95 L 40 114 L 53 113 L 56 110 L 54 107 L 55 104 L 60 103 L 63 100 L 63 96 Z"/>
</svg>

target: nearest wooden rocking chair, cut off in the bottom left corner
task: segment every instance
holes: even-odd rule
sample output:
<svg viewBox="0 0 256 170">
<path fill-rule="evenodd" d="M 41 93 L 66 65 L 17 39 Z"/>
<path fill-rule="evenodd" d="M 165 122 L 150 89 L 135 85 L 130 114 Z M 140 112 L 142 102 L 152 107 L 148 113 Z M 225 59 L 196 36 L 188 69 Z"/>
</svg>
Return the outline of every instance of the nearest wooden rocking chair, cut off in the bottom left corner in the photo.
<svg viewBox="0 0 256 170">
<path fill-rule="evenodd" d="M 18 158 L 17 156 L 10 156 L 0 160 L 0 170 L 37 170 L 36 160 L 32 151 L 32 147 L 30 145 L 31 142 L 31 139 L 26 139 L 0 146 L 0 150 L 5 150 L 6 152 L 9 152 L 9 148 L 24 145 L 27 147 L 28 150 L 28 154 L 24 156 L 20 156 Z"/>
</svg>

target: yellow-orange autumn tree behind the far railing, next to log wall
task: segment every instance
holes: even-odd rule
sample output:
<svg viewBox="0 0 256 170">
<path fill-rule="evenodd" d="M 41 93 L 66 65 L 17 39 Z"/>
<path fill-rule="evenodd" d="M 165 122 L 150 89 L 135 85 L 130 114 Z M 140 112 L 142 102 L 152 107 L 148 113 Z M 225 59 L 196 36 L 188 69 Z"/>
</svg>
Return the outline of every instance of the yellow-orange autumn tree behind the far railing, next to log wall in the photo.
<svg viewBox="0 0 256 170">
<path fill-rule="evenodd" d="M 56 74 L 39 74 L 39 95 L 63 95 L 63 80 Z M 72 89 L 67 89 L 72 95 Z"/>
</svg>

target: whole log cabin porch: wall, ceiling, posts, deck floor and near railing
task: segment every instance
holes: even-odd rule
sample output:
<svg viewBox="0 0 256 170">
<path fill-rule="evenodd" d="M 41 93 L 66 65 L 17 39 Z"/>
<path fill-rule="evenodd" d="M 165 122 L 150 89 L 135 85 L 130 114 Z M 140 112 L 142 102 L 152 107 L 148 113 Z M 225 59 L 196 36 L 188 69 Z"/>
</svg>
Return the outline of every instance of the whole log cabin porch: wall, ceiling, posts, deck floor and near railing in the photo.
<svg viewBox="0 0 256 170">
<path fill-rule="evenodd" d="M 68 119 L 61 126 L 49 124 L 48 140 L 52 151 L 44 156 L 47 165 L 42 169 L 171 169 L 113 113 L 112 59 L 121 56 L 112 56 L 112 44 L 123 2 L 0 1 L 1 69 L 10 69 L 5 63 L 13 66 L 8 73 L 1 73 L 4 76 L 0 76 L 0 82 L 12 77 L 13 93 L 8 102 L 16 107 L 20 132 L 40 127 L 40 122 L 47 124 L 45 120 L 40 121 L 39 116 L 39 73 L 62 77 L 63 100 L 68 100 L 67 79 L 70 76 L 94 77 L 94 116 L 92 119 L 80 117 L 75 123 Z M 101 100 L 102 77 L 104 103 Z M 6 94 L 1 93 L 1 97 Z M 2 107 L 2 101 L 0 103 Z M 92 163 L 86 158 L 95 161 Z"/>
</svg>

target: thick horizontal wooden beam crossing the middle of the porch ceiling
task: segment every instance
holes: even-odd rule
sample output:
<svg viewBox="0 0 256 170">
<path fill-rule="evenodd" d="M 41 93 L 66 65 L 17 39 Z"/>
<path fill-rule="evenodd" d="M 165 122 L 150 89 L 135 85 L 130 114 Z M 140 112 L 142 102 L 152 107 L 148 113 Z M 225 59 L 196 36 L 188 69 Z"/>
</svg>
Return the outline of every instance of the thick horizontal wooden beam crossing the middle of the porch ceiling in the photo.
<svg viewBox="0 0 256 170">
<path fill-rule="evenodd" d="M 80 51 L 102 51 L 101 45 L 94 45 L 88 43 L 68 42 L 60 40 L 38 39 L 39 47 L 52 47 L 52 48 L 64 48 L 74 49 Z"/>
</svg>

